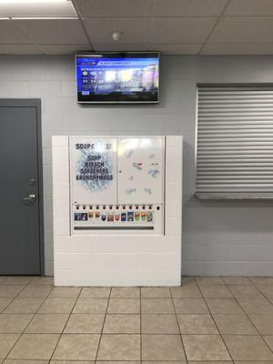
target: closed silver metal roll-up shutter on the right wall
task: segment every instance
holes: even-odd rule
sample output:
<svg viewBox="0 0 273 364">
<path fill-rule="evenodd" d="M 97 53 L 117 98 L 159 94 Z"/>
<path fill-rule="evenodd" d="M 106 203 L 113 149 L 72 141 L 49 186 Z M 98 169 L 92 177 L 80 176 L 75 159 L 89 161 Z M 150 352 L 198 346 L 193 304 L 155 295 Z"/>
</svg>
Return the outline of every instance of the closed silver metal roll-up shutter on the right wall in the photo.
<svg viewBox="0 0 273 364">
<path fill-rule="evenodd" d="M 273 197 L 273 86 L 198 86 L 197 197 Z"/>
</svg>

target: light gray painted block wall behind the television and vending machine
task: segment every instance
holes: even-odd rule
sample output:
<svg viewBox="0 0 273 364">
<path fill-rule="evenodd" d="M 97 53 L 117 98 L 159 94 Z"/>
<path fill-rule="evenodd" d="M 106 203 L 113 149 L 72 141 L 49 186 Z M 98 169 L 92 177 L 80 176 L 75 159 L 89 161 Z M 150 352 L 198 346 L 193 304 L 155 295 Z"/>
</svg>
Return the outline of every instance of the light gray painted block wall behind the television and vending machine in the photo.
<svg viewBox="0 0 273 364">
<path fill-rule="evenodd" d="M 158 106 L 78 106 L 73 56 L 1 56 L 0 97 L 42 99 L 46 274 L 53 273 L 51 136 L 168 134 L 184 136 L 182 273 L 273 276 L 273 203 L 193 197 L 197 83 L 272 83 L 272 65 L 272 56 L 162 56 Z"/>
</svg>

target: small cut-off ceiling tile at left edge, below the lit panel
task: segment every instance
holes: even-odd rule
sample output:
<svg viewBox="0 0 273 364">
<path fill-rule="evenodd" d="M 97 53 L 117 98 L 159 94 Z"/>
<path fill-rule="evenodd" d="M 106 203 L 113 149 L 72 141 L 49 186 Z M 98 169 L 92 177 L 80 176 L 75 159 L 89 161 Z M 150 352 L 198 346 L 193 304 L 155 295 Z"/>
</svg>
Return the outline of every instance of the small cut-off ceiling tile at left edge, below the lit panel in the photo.
<svg viewBox="0 0 273 364">
<path fill-rule="evenodd" d="M 12 20 L 0 20 L 0 44 L 21 45 L 30 43 L 16 28 Z"/>
</svg>

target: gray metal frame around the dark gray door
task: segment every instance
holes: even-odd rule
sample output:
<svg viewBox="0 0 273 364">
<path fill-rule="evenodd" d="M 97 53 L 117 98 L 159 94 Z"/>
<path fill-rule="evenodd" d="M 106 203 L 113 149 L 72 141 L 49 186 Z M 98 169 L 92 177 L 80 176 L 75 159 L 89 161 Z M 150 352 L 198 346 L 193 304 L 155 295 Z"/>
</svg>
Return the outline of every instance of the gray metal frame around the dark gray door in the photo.
<svg viewBox="0 0 273 364">
<path fill-rule="evenodd" d="M 45 276 L 45 231 L 44 231 L 41 99 L 40 98 L 0 98 L 0 107 L 35 107 L 35 109 L 36 109 L 40 275 Z"/>
</svg>

